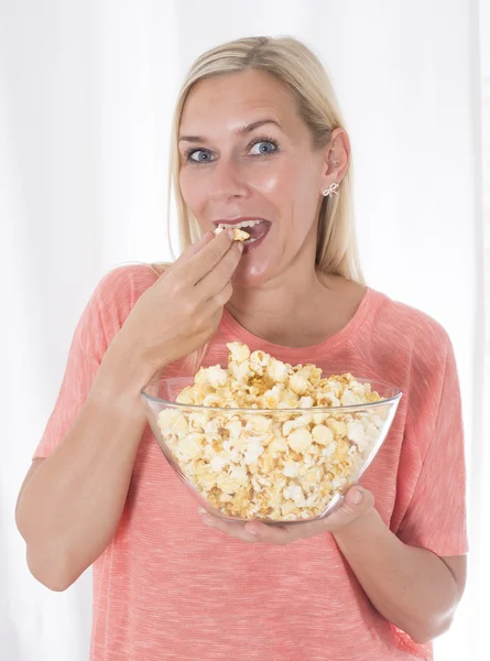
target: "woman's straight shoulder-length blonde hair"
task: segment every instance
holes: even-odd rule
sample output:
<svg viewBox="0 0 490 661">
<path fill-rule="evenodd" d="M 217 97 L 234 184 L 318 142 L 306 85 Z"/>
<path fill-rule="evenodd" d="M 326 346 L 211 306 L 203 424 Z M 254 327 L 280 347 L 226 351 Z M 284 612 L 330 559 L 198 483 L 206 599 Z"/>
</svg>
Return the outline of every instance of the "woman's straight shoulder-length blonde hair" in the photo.
<svg viewBox="0 0 490 661">
<path fill-rule="evenodd" d="M 204 78 L 259 69 L 274 76 L 291 91 L 300 116 L 309 128 L 314 147 L 326 148 L 336 128 L 344 128 L 344 120 L 327 72 L 318 57 L 301 41 L 291 37 L 251 36 L 238 39 L 207 51 L 190 67 L 182 86 L 175 108 L 168 177 L 170 205 L 174 194 L 179 238 L 184 248 L 195 242 L 199 226 L 188 209 L 178 187 L 178 131 L 185 100 L 193 86 Z M 357 238 L 353 227 L 351 163 L 340 183 L 337 195 L 322 202 L 318 216 L 316 267 L 324 273 L 341 275 L 364 284 Z M 167 264 L 152 264 L 161 273 Z"/>
</svg>

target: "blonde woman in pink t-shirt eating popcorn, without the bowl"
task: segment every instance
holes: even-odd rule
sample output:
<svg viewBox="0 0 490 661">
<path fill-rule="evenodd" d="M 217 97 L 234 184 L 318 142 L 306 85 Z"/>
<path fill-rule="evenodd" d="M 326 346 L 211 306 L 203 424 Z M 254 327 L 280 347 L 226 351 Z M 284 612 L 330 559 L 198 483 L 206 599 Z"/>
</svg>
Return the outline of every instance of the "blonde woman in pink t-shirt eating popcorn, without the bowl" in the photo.
<svg viewBox="0 0 490 661">
<path fill-rule="evenodd" d="M 293 39 L 205 53 L 172 162 L 189 247 L 156 278 L 111 271 L 83 314 L 19 496 L 31 572 L 63 590 L 94 563 L 92 661 L 432 659 L 466 575 L 455 358 L 437 322 L 362 280 L 324 68 Z M 211 231 L 237 224 L 244 247 Z M 198 512 L 145 425 L 140 388 L 226 360 L 231 339 L 402 389 L 362 487 L 324 521 Z"/>
</svg>

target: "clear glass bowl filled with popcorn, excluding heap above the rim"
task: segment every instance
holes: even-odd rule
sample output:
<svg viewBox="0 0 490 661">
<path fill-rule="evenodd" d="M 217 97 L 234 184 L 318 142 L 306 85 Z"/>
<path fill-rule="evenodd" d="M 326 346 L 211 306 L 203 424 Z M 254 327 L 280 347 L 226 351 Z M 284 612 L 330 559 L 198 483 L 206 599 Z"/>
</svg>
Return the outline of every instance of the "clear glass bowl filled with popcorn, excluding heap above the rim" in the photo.
<svg viewBox="0 0 490 661">
<path fill-rule="evenodd" d="M 155 377 L 141 398 L 168 464 L 209 513 L 290 524 L 323 519 L 338 508 L 390 430 L 400 389 L 356 380 L 383 399 L 262 410 L 177 403 L 193 377 Z"/>
</svg>

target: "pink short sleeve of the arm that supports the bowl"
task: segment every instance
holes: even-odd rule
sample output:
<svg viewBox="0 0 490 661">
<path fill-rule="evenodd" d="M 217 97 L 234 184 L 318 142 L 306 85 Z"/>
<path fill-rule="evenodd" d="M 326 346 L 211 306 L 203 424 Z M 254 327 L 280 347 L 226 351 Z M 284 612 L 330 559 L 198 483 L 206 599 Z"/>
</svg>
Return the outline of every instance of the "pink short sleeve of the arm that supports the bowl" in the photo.
<svg viewBox="0 0 490 661">
<path fill-rule="evenodd" d="M 411 415 L 416 418 L 417 411 L 411 411 Z M 413 429 L 422 433 L 420 425 L 414 424 Z M 449 339 L 435 424 L 396 534 L 406 544 L 428 549 L 439 556 L 468 552 L 461 398 Z"/>
</svg>

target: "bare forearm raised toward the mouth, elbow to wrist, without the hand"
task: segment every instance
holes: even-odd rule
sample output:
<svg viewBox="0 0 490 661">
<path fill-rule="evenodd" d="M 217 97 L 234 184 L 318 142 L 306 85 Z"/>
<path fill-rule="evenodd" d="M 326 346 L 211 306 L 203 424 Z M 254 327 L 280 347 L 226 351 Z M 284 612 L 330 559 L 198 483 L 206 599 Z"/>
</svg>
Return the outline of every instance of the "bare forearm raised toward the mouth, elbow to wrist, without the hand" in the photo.
<svg viewBox="0 0 490 661">
<path fill-rule="evenodd" d="M 117 356 L 102 364 L 73 429 L 19 497 L 29 566 L 52 589 L 68 587 L 100 555 L 126 502 L 145 416 L 138 397 L 142 375 L 121 367 L 124 375 Z"/>
</svg>

